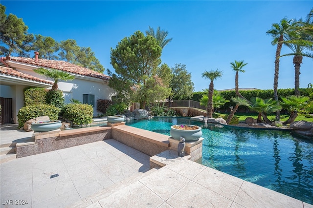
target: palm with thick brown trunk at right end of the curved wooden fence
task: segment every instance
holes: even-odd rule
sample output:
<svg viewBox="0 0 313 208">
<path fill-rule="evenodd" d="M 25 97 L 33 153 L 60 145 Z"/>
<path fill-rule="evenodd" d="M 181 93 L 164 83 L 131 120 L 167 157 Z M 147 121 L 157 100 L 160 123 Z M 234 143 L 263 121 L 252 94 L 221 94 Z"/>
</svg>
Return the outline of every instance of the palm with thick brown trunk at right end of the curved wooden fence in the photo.
<svg viewBox="0 0 313 208">
<path fill-rule="evenodd" d="M 215 71 L 205 71 L 202 73 L 202 78 L 209 79 L 210 85 L 209 85 L 209 92 L 208 92 L 208 101 L 207 101 L 207 117 L 212 118 L 213 115 L 213 92 L 214 92 L 214 83 L 213 81 L 217 78 L 222 77 L 223 71 L 219 71 L 219 69 L 216 69 Z"/>
</svg>

